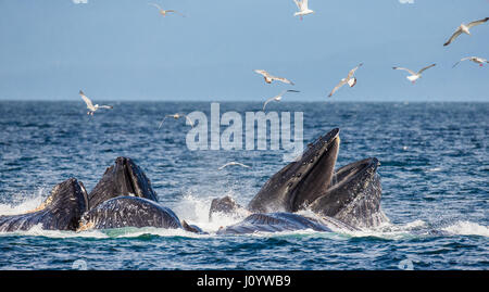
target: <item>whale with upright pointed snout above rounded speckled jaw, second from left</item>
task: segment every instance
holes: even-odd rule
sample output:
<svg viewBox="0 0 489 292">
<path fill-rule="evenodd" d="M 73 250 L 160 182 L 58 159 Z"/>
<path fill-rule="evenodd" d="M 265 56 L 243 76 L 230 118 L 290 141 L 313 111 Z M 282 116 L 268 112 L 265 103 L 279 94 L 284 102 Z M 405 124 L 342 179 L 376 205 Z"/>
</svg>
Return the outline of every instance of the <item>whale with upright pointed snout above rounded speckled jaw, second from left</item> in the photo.
<svg viewBox="0 0 489 292">
<path fill-rule="evenodd" d="M 151 181 L 128 157 L 117 157 L 115 164 L 106 168 L 88 200 L 90 208 L 80 218 L 77 231 L 156 227 L 203 232 L 197 226 L 180 223 L 172 210 L 160 205 Z"/>
</svg>

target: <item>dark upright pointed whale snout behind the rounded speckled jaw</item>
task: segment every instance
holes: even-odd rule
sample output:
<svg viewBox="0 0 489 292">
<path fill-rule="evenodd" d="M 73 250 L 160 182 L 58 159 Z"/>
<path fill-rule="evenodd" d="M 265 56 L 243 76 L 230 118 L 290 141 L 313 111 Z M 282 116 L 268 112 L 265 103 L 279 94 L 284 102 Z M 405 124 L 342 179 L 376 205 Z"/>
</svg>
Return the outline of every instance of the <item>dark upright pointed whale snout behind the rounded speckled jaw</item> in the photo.
<svg viewBox="0 0 489 292">
<path fill-rule="evenodd" d="M 89 208 L 112 198 L 131 195 L 158 202 L 151 181 L 133 160 L 117 157 L 115 164 L 106 168 L 103 177 L 89 193 Z"/>
</svg>

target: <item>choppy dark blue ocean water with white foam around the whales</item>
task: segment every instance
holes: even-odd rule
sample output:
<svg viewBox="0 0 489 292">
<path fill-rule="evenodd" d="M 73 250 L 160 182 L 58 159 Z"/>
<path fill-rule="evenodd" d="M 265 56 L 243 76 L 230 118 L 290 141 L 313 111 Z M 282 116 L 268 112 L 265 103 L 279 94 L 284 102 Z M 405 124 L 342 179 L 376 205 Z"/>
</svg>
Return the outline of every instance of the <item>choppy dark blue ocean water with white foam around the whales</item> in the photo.
<svg viewBox="0 0 489 292">
<path fill-rule="evenodd" d="M 304 143 L 335 127 L 337 166 L 376 156 L 390 223 L 373 230 L 216 236 L 211 200 L 246 205 L 286 162 L 280 151 L 190 151 L 183 119 L 209 102 L 0 102 L 0 215 L 35 208 L 76 177 L 90 191 L 117 156 L 151 179 L 160 202 L 209 234 L 155 228 L 0 233 L 0 269 L 489 269 L 489 103 L 271 103 L 303 112 Z M 259 102 L 221 103 L 259 111 Z M 251 169 L 234 166 L 238 161 Z"/>
</svg>

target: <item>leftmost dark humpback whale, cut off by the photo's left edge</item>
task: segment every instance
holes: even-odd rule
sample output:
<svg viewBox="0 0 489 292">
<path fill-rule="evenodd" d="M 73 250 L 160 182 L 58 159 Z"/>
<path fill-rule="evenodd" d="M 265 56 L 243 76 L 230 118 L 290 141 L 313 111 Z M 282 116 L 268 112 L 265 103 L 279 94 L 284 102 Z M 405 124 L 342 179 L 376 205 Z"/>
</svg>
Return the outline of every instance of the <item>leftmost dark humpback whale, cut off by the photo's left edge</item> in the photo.
<svg viewBox="0 0 489 292">
<path fill-rule="evenodd" d="M 28 230 L 39 224 L 46 230 L 75 230 L 87 208 L 88 196 L 84 185 L 71 178 L 54 186 L 48 199 L 36 210 L 0 216 L 0 231 Z"/>
</svg>

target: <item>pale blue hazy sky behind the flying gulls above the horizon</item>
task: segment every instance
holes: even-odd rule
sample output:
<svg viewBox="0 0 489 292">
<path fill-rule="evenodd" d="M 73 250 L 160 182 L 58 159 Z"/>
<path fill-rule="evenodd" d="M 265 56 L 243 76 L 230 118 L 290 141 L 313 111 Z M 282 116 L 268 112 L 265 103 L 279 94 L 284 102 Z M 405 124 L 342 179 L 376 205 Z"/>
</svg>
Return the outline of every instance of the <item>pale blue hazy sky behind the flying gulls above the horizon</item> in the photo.
<svg viewBox="0 0 489 292">
<path fill-rule="evenodd" d="M 488 0 L 0 0 L 0 100 L 489 101 Z M 151 2 L 151 1 L 150 1 Z M 471 3 L 471 4 L 467 4 Z M 327 98 L 348 72 L 358 84 Z M 436 63 L 412 85 L 413 71 Z M 292 80 L 267 85 L 253 69 Z M 284 99 L 285 101 L 286 99 Z"/>
</svg>

